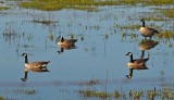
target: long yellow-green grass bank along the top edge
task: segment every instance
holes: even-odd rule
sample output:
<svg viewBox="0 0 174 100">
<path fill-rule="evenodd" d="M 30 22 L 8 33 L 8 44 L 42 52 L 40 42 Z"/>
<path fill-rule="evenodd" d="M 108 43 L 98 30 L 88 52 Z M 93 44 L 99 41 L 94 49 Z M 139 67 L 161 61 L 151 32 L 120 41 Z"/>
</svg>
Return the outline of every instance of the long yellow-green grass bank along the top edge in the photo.
<svg viewBox="0 0 174 100">
<path fill-rule="evenodd" d="M 20 3 L 20 7 L 27 9 L 37 9 L 42 11 L 55 11 L 62 9 L 95 10 L 98 5 L 121 5 L 121 4 L 174 4 L 173 0 L 32 0 Z"/>
</svg>

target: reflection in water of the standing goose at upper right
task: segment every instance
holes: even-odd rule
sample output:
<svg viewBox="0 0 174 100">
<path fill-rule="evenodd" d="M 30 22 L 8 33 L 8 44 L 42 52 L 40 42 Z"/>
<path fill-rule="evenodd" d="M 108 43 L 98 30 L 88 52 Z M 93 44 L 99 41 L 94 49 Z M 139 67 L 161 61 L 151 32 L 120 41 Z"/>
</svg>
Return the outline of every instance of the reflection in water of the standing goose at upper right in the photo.
<svg viewBox="0 0 174 100">
<path fill-rule="evenodd" d="M 144 58 L 145 55 L 145 50 L 150 50 L 154 48 L 157 45 L 159 45 L 159 41 L 142 39 L 139 43 L 139 50 L 141 50 L 141 58 Z"/>
</svg>

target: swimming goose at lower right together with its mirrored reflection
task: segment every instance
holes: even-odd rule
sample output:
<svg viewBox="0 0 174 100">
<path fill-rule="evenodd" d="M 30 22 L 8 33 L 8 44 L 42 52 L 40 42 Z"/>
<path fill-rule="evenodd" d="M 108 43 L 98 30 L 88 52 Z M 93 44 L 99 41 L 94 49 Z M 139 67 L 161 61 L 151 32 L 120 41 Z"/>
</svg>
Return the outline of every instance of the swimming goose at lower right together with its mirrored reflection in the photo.
<svg viewBox="0 0 174 100">
<path fill-rule="evenodd" d="M 149 70 L 146 65 L 146 62 L 149 60 L 149 57 L 147 59 L 133 59 L 133 53 L 128 52 L 126 55 L 130 58 L 129 62 L 127 63 L 127 66 L 129 68 L 129 74 L 126 75 L 127 78 L 133 77 L 133 71 L 134 70 Z"/>
</svg>

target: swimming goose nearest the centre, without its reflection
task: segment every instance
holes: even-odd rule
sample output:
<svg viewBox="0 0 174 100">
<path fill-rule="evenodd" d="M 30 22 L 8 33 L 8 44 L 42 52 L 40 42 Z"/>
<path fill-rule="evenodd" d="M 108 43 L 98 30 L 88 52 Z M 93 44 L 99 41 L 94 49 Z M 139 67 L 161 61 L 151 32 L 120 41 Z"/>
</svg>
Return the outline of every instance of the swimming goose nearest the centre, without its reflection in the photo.
<svg viewBox="0 0 174 100">
<path fill-rule="evenodd" d="M 58 45 L 59 46 L 75 46 L 77 39 L 64 39 L 62 36 L 58 37 Z"/>
</svg>

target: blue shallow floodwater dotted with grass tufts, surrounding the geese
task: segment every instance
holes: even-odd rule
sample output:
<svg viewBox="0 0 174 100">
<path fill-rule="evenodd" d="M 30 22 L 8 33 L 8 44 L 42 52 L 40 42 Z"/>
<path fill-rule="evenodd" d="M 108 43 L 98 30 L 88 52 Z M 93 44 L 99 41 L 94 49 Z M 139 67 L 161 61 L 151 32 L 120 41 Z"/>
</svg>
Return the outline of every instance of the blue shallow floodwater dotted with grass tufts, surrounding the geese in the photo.
<svg viewBox="0 0 174 100">
<path fill-rule="evenodd" d="M 174 98 L 174 18 L 158 11 L 173 5 L 40 11 L 20 8 L 18 2 L 0 2 L 10 8 L 0 11 L 0 100 Z M 145 40 L 139 34 L 142 17 L 160 34 Z M 59 36 L 77 42 L 60 47 Z M 148 58 L 148 70 L 133 70 L 127 78 L 127 52 L 134 59 Z M 49 72 L 29 71 L 23 82 L 23 53 L 28 62 L 50 61 Z"/>
</svg>

